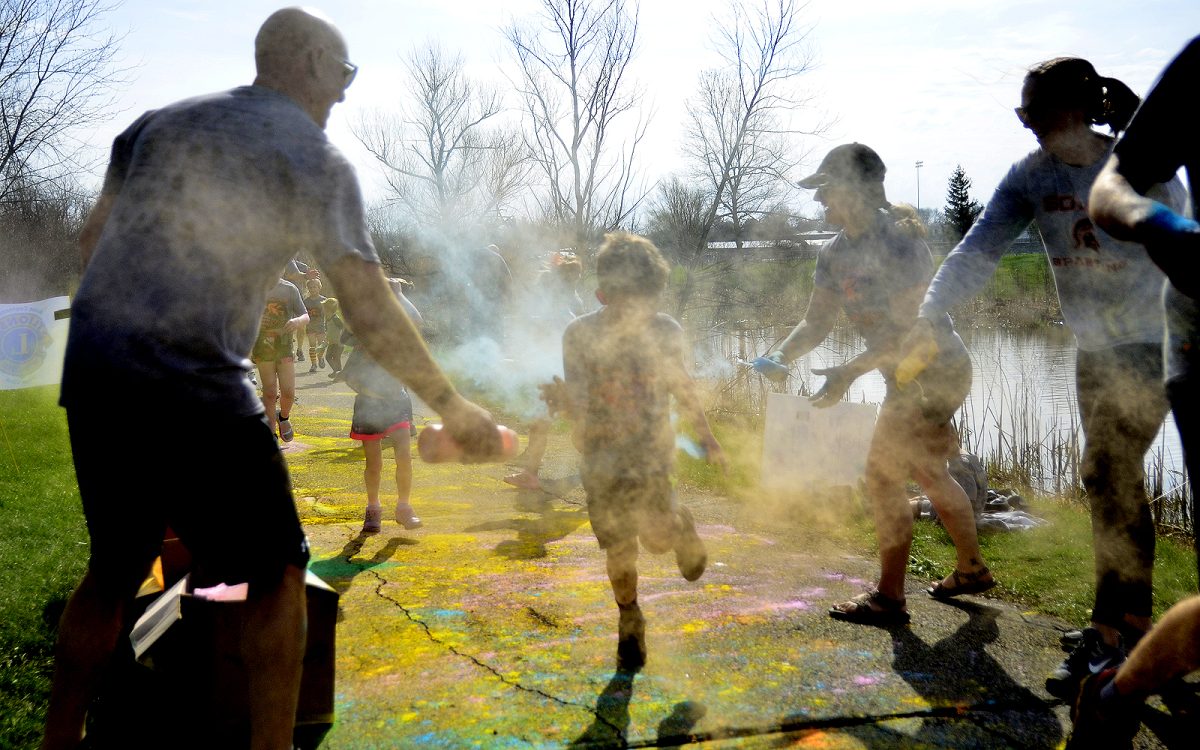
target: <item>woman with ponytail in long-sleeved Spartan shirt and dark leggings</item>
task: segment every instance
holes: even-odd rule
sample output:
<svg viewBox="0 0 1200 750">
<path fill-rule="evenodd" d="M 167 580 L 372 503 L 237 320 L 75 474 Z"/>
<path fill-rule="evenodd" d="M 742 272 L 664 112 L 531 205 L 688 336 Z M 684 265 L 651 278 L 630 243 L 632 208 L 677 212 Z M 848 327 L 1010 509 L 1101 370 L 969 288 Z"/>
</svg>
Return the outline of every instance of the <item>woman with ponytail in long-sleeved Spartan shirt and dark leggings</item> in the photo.
<svg viewBox="0 0 1200 750">
<path fill-rule="evenodd" d="M 1037 223 L 1062 316 L 1075 335 L 1075 390 L 1084 427 L 1081 474 L 1091 504 L 1096 601 L 1091 626 L 1046 690 L 1074 697 L 1088 665 L 1120 659 L 1151 624 L 1154 524 L 1144 460 L 1168 404 L 1163 392 L 1164 276 L 1141 245 L 1114 239 L 1087 216 L 1087 196 L 1138 96 L 1079 58 L 1025 76 L 1016 116 L 1038 142 L 1001 181 L 979 220 L 938 269 L 910 336 L 977 294 L 1009 245 Z M 1093 126 L 1108 126 L 1112 134 Z M 1181 208 L 1178 179 L 1153 194 Z"/>
</svg>

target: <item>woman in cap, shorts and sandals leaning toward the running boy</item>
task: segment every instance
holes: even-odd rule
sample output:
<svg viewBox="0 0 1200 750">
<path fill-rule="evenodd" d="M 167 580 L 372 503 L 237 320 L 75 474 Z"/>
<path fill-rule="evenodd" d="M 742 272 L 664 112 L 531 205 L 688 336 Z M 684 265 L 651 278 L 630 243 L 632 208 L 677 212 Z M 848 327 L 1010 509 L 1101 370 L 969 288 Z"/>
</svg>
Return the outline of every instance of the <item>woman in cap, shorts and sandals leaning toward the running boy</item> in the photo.
<svg viewBox="0 0 1200 750">
<path fill-rule="evenodd" d="M 946 464 L 959 448 L 950 420 L 971 390 L 971 358 L 944 313 L 932 331 L 937 354 L 919 373 L 899 358 L 934 275 L 934 258 L 916 211 L 888 202 L 886 170 L 874 150 L 851 143 L 829 151 L 816 174 L 799 182 L 816 190 L 814 199 L 824 206 L 826 222 L 841 232 L 817 257 L 804 319 L 775 352 L 762 358 L 781 366 L 808 354 L 824 341 L 844 311 L 866 342 L 866 350 L 838 367 L 814 371 L 826 376 L 811 398 L 814 404 L 839 402 L 850 385 L 871 370 L 878 370 L 887 383 L 865 470 L 880 545 L 878 583 L 829 610 L 835 619 L 874 625 L 910 619 L 905 598 L 913 532 L 905 490 L 910 476 L 934 503 L 958 553 L 955 572 L 929 594 L 938 599 L 978 594 L 996 584 L 979 551 L 971 502 Z"/>
</svg>

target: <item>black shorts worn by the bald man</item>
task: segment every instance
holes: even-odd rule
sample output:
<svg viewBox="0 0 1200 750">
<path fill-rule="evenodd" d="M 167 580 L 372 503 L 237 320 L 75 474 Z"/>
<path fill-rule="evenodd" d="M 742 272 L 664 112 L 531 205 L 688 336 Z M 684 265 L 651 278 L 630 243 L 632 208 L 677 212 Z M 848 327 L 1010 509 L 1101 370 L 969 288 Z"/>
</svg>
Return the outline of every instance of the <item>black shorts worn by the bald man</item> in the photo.
<svg viewBox="0 0 1200 750">
<path fill-rule="evenodd" d="M 265 416 L 185 410 L 186 439 L 166 440 L 149 409 L 67 409 L 92 575 L 115 586 L 144 575 L 167 526 L 200 584 L 274 586 L 287 565 L 305 568 L 308 540 Z"/>
</svg>

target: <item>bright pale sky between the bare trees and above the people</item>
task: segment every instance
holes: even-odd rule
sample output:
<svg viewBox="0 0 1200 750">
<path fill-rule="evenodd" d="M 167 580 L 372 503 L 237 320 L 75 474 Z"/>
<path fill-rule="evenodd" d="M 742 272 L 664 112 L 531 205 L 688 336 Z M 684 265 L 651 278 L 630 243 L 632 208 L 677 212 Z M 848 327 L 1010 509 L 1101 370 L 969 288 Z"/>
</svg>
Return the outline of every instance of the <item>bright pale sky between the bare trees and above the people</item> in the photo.
<svg viewBox="0 0 1200 750">
<path fill-rule="evenodd" d="M 756 1 L 756 0 L 751 0 Z M 505 90 L 517 107 L 503 29 L 530 20 L 538 0 L 340 0 L 311 4 L 342 29 L 359 76 L 334 109 L 330 138 L 359 170 L 368 202 L 385 188 L 352 125 L 373 110 L 395 110 L 402 60 L 434 41 L 461 53 L 468 71 Z M 276 0 L 125 0 L 106 23 L 119 34 L 130 83 L 110 122 L 85 134 L 107 151 L 142 112 L 253 79 L 253 37 Z M 642 0 L 640 50 L 632 68 L 650 125 L 640 167 L 648 186 L 683 173 L 679 151 L 686 98 L 700 71 L 716 65 L 713 35 L 727 0 Z M 961 166 L 972 196 L 986 202 L 1008 167 L 1036 146 L 1013 114 L 1025 70 L 1074 55 L 1102 76 L 1145 94 L 1158 72 L 1200 34 L 1195 0 L 810 0 L 799 11 L 809 30 L 812 68 L 797 80 L 810 107 L 804 128 L 828 122 L 820 137 L 797 137 L 806 157 L 792 176 L 811 172 L 829 148 L 851 140 L 872 146 L 888 164 L 893 202 L 941 208 L 947 180 Z M 917 168 L 917 162 L 922 167 Z M 100 172 L 95 181 L 98 186 Z M 918 194 L 919 191 L 919 194 Z M 794 204 L 815 210 L 804 191 Z"/>
</svg>

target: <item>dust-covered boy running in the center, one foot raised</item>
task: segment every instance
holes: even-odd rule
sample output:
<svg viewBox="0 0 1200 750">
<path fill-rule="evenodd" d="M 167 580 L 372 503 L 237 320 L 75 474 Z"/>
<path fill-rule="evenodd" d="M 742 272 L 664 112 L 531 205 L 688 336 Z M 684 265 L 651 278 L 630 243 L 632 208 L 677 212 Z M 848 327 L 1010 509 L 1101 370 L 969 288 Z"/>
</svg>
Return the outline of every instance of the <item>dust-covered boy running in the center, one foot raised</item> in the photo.
<svg viewBox="0 0 1200 750">
<path fill-rule="evenodd" d="M 708 559 L 691 512 L 678 504 L 672 486 L 671 396 L 691 421 L 708 460 L 725 466 L 684 366 L 683 329 L 658 312 L 667 274 L 653 242 L 608 234 L 596 256 L 596 299 L 604 307 L 566 326 L 565 380 L 556 378 L 542 386 L 551 409 L 575 421 L 588 517 L 607 556 L 619 611 L 622 670 L 636 670 L 646 661 L 646 620 L 637 605 L 638 542 L 655 554 L 673 550 L 688 581 L 703 575 Z"/>
</svg>

